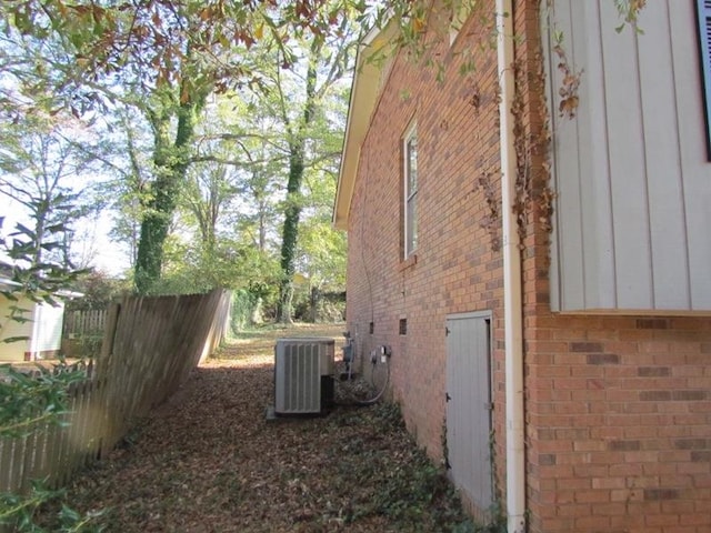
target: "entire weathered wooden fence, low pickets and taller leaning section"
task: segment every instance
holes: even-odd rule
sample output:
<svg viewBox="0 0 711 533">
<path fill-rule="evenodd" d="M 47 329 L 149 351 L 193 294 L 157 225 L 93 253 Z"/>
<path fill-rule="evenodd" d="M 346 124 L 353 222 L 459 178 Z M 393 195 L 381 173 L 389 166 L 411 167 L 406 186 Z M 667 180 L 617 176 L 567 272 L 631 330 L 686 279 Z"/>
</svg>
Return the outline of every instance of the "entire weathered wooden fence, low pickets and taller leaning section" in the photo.
<svg viewBox="0 0 711 533">
<path fill-rule="evenodd" d="M 164 402 L 223 338 L 230 294 L 124 298 L 107 318 L 101 355 L 88 379 L 69 390 L 62 425 L 0 438 L 0 492 L 23 492 L 30 480 L 61 486 L 102 456 L 131 424 Z M 1 531 L 0 526 L 0 531 Z"/>
</svg>

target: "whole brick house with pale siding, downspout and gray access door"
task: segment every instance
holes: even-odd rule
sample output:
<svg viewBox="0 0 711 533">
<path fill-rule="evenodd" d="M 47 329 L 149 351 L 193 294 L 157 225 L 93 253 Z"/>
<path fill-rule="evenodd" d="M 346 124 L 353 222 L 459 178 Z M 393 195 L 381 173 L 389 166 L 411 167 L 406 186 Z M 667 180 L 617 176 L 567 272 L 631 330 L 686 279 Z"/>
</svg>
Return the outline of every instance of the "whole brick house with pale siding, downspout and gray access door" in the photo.
<svg viewBox="0 0 711 533">
<path fill-rule="evenodd" d="M 333 215 L 356 349 L 392 348 L 472 513 L 709 532 L 711 3 L 651 0 L 642 32 L 613 0 L 483 3 L 431 7 L 434 68 L 395 24 L 362 42 Z"/>
</svg>

